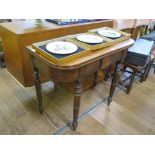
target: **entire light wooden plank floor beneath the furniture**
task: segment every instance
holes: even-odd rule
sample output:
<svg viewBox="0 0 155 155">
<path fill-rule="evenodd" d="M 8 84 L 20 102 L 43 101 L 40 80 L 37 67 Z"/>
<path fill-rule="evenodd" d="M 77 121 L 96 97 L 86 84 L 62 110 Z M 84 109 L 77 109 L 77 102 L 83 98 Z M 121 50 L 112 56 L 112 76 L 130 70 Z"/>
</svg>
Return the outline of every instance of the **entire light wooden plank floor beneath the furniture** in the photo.
<svg viewBox="0 0 155 155">
<path fill-rule="evenodd" d="M 6 69 L 0 69 L 0 134 L 54 134 L 72 120 L 72 94 L 53 83 L 43 85 L 44 114 L 37 109 L 34 87 L 24 88 Z M 65 128 L 62 134 L 155 134 L 155 74 L 147 81 L 135 81 L 130 95 L 117 94 L 111 105 L 88 109 L 108 95 L 102 82 L 82 96 L 77 131 Z"/>
</svg>

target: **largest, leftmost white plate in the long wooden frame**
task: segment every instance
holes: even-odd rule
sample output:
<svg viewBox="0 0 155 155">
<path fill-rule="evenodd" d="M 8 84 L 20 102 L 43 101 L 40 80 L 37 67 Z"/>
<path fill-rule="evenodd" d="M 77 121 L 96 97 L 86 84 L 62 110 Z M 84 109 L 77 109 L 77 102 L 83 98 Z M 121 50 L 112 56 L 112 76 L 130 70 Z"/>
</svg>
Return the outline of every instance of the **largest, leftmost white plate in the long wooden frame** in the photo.
<svg viewBox="0 0 155 155">
<path fill-rule="evenodd" d="M 77 51 L 78 47 L 70 42 L 55 41 L 47 44 L 46 49 L 55 54 L 71 54 Z"/>
</svg>

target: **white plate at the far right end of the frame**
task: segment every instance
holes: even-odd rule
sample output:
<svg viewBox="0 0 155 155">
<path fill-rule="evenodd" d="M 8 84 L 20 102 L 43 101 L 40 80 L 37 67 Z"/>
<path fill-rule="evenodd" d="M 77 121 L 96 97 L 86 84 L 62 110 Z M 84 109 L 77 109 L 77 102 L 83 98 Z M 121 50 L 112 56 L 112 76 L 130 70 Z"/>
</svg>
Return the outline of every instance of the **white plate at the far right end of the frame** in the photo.
<svg viewBox="0 0 155 155">
<path fill-rule="evenodd" d="M 98 30 L 98 34 L 104 36 L 104 37 L 109 37 L 109 38 L 118 38 L 121 37 L 121 34 L 113 31 L 113 30 Z"/>
</svg>

